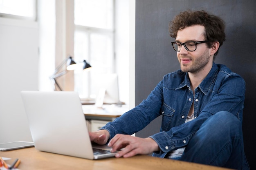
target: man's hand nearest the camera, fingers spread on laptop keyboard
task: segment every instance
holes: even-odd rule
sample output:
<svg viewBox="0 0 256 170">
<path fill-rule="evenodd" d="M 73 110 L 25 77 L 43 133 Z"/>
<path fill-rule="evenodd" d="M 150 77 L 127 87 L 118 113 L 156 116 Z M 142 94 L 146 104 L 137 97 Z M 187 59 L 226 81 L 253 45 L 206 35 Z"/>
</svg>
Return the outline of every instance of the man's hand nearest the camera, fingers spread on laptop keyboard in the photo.
<svg viewBox="0 0 256 170">
<path fill-rule="evenodd" d="M 134 155 L 148 155 L 159 150 L 157 143 L 152 138 L 139 138 L 130 135 L 117 134 L 110 140 L 108 146 L 111 151 L 119 151 L 115 157 L 132 157 Z"/>
</svg>

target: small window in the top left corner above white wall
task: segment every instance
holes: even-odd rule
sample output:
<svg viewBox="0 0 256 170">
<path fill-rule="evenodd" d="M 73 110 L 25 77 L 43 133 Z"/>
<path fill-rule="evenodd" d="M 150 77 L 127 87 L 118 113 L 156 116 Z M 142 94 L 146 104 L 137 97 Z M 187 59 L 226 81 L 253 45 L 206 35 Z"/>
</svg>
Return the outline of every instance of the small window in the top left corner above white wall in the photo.
<svg viewBox="0 0 256 170">
<path fill-rule="evenodd" d="M 36 20 L 36 0 L 0 0 L 0 16 Z"/>
</svg>

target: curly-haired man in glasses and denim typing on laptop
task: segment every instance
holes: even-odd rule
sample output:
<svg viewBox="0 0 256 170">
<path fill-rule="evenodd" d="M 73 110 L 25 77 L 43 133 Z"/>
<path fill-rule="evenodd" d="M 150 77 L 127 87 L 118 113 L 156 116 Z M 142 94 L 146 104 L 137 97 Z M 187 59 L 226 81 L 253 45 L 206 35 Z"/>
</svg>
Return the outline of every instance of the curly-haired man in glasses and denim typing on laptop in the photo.
<svg viewBox="0 0 256 170">
<path fill-rule="evenodd" d="M 137 154 L 249 169 L 243 148 L 245 82 L 213 59 L 225 41 L 225 23 L 205 11 L 185 11 L 170 23 L 181 70 L 169 73 L 141 104 L 90 132 L 92 141 Z M 130 136 L 162 115 L 161 132 Z"/>
</svg>

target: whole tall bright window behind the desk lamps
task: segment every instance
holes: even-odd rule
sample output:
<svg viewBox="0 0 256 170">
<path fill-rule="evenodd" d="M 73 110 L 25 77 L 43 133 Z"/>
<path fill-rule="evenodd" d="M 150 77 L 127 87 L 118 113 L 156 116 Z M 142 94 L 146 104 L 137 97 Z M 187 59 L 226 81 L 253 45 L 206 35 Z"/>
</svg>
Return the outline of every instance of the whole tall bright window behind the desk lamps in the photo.
<svg viewBox="0 0 256 170">
<path fill-rule="evenodd" d="M 86 60 L 90 72 L 74 71 L 74 91 L 94 98 L 101 73 L 115 73 L 114 0 L 74 0 L 74 60 Z"/>
</svg>

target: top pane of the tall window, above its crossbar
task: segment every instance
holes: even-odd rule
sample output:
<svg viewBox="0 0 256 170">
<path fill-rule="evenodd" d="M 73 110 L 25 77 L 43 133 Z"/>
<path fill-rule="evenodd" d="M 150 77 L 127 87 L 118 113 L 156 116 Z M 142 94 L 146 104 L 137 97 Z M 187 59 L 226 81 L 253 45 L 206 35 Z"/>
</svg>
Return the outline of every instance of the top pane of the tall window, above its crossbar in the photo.
<svg viewBox="0 0 256 170">
<path fill-rule="evenodd" d="M 113 0 L 75 0 L 74 23 L 104 29 L 113 27 Z"/>
</svg>

